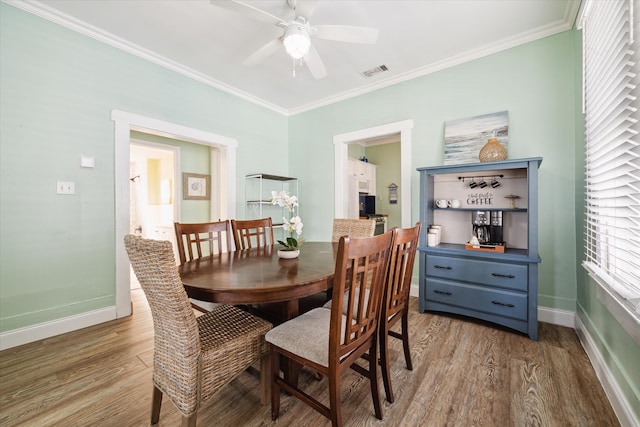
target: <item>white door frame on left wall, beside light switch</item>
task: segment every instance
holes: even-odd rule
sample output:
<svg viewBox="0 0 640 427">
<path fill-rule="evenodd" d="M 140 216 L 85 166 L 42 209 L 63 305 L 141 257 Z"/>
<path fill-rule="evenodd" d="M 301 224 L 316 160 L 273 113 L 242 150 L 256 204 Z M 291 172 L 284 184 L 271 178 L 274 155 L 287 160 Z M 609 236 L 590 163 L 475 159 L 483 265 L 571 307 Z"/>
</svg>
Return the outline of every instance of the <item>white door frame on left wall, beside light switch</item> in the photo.
<svg viewBox="0 0 640 427">
<path fill-rule="evenodd" d="M 204 132 L 175 123 L 152 119 L 120 110 L 111 111 L 115 122 L 115 259 L 116 259 L 116 318 L 131 315 L 129 288 L 129 257 L 124 249 L 124 236 L 129 233 L 129 145 L 131 131 L 139 131 L 212 147 L 211 187 L 219 188 L 217 200 L 221 218 L 236 215 L 236 154 L 238 141 L 222 135 Z M 181 174 L 178 174 L 181 181 Z M 181 183 L 178 182 L 178 185 Z M 212 192 L 212 195 L 215 194 Z M 224 203 L 218 203 L 223 201 Z"/>
</svg>

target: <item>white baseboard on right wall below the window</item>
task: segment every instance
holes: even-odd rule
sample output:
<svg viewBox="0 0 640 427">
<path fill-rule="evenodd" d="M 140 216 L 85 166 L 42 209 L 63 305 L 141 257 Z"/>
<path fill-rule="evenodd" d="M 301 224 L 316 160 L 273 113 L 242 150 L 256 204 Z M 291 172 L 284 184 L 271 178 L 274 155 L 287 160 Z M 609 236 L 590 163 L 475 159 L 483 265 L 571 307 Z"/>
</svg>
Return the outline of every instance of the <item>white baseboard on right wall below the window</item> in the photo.
<svg viewBox="0 0 640 427">
<path fill-rule="evenodd" d="M 607 398 L 609 398 L 611 407 L 618 417 L 618 421 L 620 421 L 620 425 L 623 427 L 640 426 L 640 420 L 636 418 L 634 412 L 631 410 L 631 404 L 625 398 L 622 390 L 620 390 L 618 382 L 605 363 L 602 354 L 598 350 L 598 346 L 596 346 L 593 338 L 589 335 L 580 316 L 575 316 L 575 330 L 584 351 L 587 353 L 587 356 L 589 356 L 593 369 L 596 371 L 596 376 L 600 380 L 600 384 Z"/>
</svg>

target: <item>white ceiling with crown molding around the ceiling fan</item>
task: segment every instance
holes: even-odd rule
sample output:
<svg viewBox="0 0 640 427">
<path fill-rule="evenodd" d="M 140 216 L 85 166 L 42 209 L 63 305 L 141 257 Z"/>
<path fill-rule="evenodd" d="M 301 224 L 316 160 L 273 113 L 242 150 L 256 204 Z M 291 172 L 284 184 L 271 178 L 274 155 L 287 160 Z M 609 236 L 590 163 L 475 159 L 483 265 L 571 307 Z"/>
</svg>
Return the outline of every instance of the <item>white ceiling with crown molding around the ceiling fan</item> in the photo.
<svg viewBox="0 0 640 427">
<path fill-rule="evenodd" d="M 319 0 L 312 25 L 379 29 L 375 45 L 312 38 L 328 75 L 316 80 L 284 48 L 242 62 L 282 35 L 209 0 L 4 0 L 283 114 L 396 84 L 566 31 L 580 0 Z M 304 0 L 299 0 L 304 1 Z M 247 0 L 284 16 L 286 0 Z M 381 65 L 370 78 L 360 73 Z"/>
</svg>

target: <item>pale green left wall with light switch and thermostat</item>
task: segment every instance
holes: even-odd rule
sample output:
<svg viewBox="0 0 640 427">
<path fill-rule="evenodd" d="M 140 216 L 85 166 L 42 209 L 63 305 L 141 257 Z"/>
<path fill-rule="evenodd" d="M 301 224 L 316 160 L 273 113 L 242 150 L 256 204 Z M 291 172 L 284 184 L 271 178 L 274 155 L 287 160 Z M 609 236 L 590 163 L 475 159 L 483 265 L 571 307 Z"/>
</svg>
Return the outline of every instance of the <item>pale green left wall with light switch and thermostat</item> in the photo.
<svg viewBox="0 0 640 427">
<path fill-rule="evenodd" d="M 246 174 L 287 174 L 286 117 L 5 3 L 0 56 L 2 332 L 115 304 L 111 110 L 237 139 L 238 215 Z"/>
</svg>

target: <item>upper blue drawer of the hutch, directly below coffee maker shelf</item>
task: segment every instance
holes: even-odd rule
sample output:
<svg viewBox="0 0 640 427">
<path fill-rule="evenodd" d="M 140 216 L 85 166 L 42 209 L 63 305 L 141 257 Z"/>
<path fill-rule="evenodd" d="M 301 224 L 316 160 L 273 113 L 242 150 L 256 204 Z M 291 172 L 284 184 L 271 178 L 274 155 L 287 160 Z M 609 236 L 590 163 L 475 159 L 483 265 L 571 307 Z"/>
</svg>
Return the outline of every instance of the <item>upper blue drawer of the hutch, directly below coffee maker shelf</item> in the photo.
<svg viewBox="0 0 640 427">
<path fill-rule="evenodd" d="M 527 290 L 527 265 L 427 256 L 427 276 L 475 282 L 501 288 Z"/>
</svg>

